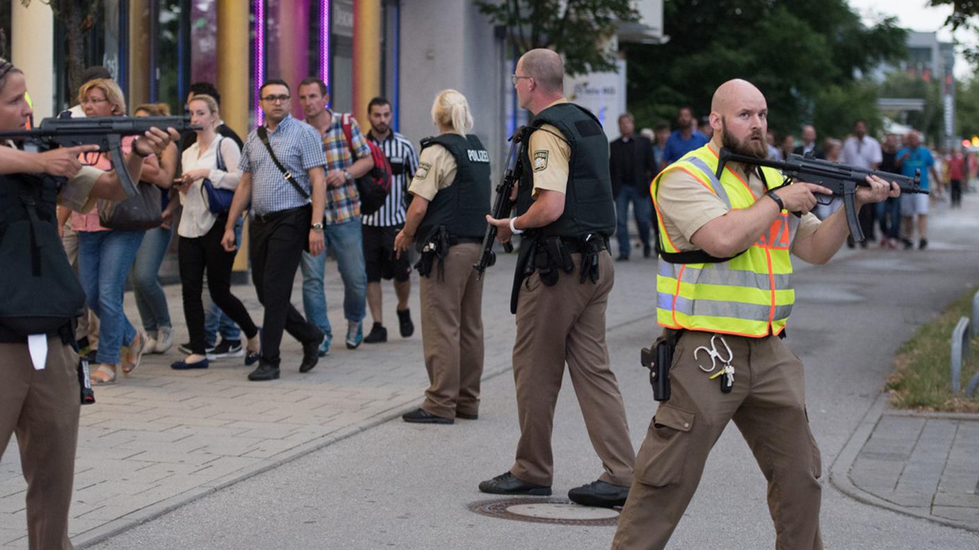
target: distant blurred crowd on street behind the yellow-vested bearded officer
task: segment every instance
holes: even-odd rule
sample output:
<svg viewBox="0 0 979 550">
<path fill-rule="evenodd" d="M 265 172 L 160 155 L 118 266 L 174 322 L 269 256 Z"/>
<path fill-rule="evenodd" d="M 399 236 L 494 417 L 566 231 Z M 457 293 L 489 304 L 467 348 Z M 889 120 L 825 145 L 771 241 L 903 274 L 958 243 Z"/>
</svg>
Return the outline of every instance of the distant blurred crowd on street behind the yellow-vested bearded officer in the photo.
<svg viewBox="0 0 979 550">
<path fill-rule="evenodd" d="M 641 245 L 643 255 L 650 256 L 650 224 L 655 226 L 656 217 L 648 196 L 649 182 L 666 166 L 711 139 L 710 124 L 704 124 L 704 121 L 702 118 L 698 126 L 693 110 L 681 107 L 673 131 L 670 124 L 663 121 L 636 132 L 631 114 L 619 116 L 620 137 L 611 144 L 610 169 L 619 214 L 620 261 L 629 260 L 630 204 L 640 241 L 636 246 Z M 901 135 L 887 132 L 883 134 L 883 140 L 878 141 L 867 133 L 865 120 L 857 120 L 853 132 L 842 140 L 829 137 L 820 142 L 816 127 L 811 124 L 801 128 L 799 138 L 791 133 L 778 135 L 769 130 L 766 146 L 769 160 L 811 155 L 816 159 L 884 172 L 907 176 L 919 174 L 920 186 L 929 191 L 928 195 L 905 195 L 861 209 L 859 217 L 865 237 L 860 243 L 862 248 L 879 243 L 883 249 L 917 246 L 924 250 L 928 247 L 929 206 L 946 200 L 953 208 L 961 206 L 962 193 L 969 191 L 970 182 L 979 177 L 979 161 L 972 151 L 955 147 L 933 152 L 922 143 L 922 135 L 916 130 Z M 840 199 L 825 199 L 820 200 L 814 211 L 819 219 L 825 219 L 840 206 Z M 847 246 L 855 248 L 857 244 L 849 239 Z"/>
</svg>

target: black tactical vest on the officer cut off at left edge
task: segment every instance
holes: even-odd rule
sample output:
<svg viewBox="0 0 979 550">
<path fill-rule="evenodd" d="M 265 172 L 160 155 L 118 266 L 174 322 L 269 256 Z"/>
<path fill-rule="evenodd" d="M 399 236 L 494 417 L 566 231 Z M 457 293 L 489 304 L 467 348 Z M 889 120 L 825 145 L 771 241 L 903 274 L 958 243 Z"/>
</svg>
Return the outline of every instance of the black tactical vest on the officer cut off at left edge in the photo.
<svg viewBox="0 0 979 550">
<path fill-rule="evenodd" d="M 52 334 L 81 315 L 85 293 L 58 237 L 58 183 L 0 175 L 0 340 Z"/>
</svg>

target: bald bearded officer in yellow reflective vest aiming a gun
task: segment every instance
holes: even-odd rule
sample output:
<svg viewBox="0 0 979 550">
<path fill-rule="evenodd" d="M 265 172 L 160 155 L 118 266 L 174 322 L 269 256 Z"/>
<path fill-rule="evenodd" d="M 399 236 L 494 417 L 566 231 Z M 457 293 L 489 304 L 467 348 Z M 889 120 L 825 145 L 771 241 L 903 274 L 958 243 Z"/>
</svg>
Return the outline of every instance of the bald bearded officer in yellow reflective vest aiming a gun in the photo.
<svg viewBox="0 0 979 550">
<path fill-rule="evenodd" d="M 722 147 L 766 158 L 768 107 L 754 85 L 730 80 L 715 92 L 711 111 L 711 142 L 651 186 L 660 214 L 657 319 L 661 338 L 676 342 L 672 395 L 636 456 L 612 547 L 666 546 L 711 447 L 733 420 L 769 481 L 775 548 L 818 549 L 819 450 L 806 415 L 803 365 L 779 336 L 794 299 L 789 253 L 828 261 L 849 233 L 846 212 L 820 224 L 808 212 L 814 194 L 829 190 L 802 182 L 782 187 L 772 168 L 728 162 L 719 179 Z M 900 194 L 879 178 L 867 183 L 858 187 L 858 208 Z M 729 534 L 719 527 L 719 535 Z"/>
</svg>

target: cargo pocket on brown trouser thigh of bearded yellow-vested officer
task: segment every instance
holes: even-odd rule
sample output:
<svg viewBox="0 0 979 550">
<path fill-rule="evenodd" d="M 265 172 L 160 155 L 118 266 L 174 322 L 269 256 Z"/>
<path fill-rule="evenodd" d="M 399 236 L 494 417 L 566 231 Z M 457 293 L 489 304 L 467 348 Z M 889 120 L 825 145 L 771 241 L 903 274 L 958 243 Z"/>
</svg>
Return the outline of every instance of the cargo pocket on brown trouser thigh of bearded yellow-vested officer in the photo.
<svg viewBox="0 0 979 550">
<path fill-rule="evenodd" d="M 656 411 L 646 440 L 635 456 L 635 478 L 647 485 L 664 486 L 679 481 L 687 461 L 689 432 L 694 414 L 669 403 Z"/>
</svg>

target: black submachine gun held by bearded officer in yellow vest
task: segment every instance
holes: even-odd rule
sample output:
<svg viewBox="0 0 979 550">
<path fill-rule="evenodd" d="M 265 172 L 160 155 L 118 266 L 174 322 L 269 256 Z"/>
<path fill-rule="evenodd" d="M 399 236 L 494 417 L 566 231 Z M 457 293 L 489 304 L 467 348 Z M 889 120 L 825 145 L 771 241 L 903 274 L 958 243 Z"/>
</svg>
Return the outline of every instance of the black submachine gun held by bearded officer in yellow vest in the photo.
<svg viewBox="0 0 979 550">
<path fill-rule="evenodd" d="M 856 198 L 857 186 L 870 186 L 866 182 L 866 176 L 875 175 L 887 182 L 897 182 L 902 193 L 928 194 L 927 189 L 921 189 L 918 185 L 921 180 L 920 170 L 915 170 L 914 176 L 910 177 L 891 172 L 868 170 L 860 166 L 850 166 L 829 160 L 814 159 L 811 154 L 807 154 L 806 156 L 789 155 L 786 160 L 767 160 L 737 155 L 731 153 L 726 148 L 721 150 L 718 157 L 720 160 L 718 162 L 717 174 L 715 174 L 718 179 L 721 179 L 721 173 L 723 172 L 725 163 L 743 162 L 745 164 L 768 166 L 769 168 L 780 170 L 786 178 L 785 185 L 789 184 L 789 180 L 815 183 L 832 191 L 832 197 L 842 197 L 843 206 L 847 210 L 847 224 L 850 226 L 850 235 L 853 236 L 854 241 L 857 243 L 862 242 L 863 231 L 857 217 L 858 212 L 854 200 Z M 825 203 L 820 202 L 820 199 L 823 197 L 826 196 L 817 195 L 816 203 L 825 206 L 832 201 L 832 198 L 830 198 Z M 800 215 L 798 212 L 793 213 Z"/>
</svg>

